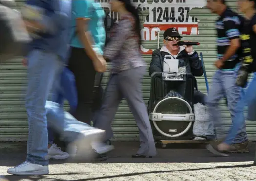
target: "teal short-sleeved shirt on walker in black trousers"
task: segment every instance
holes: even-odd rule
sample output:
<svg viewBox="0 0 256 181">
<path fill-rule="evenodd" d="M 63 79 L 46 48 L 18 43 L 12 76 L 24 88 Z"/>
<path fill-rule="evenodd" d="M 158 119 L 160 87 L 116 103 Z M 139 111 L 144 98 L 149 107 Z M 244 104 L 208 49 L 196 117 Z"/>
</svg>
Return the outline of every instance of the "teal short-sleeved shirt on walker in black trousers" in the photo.
<svg viewBox="0 0 256 181">
<path fill-rule="evenodd" d="M 76 30 L 77 18 L 90 18 L 89 31 L 94 40 L 93 49 L 98 54 L 103 54 L 103 48 L 105 45 L 105 28 L 104 18 L 105 12 L 101 7 L 101 4 L 93 0 L 73 0 L 72 1 L 72 30 L 71 30 L 71 43 L 70 46 L 76 48 L 84 48 L 78 36 L 74 37 Z"/>
</svg>

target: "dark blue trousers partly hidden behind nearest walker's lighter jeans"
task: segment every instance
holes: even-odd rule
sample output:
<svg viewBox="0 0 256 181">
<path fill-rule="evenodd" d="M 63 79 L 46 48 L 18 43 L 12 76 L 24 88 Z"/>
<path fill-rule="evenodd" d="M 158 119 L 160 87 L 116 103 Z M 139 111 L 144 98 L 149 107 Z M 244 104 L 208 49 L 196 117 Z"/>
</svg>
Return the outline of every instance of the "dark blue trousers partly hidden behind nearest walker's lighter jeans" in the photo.
<svg viewBox="0 0 256 181">
<path fill-rule="evenodd" d="M 60 83 L 60 86 L 54 90 L 52 101 L 63 106 L 64 100 L 66 99 L 69 102 L 70 111 L 72 112 L 72 110 L 75 110 L 77 107 L 77 90 L 74 74 L 67 67 L 64 67 L 58 83 Z M 53 140 L 53 131 L 48 126 L 48 144 L 53 144 Z"/>
</svg>

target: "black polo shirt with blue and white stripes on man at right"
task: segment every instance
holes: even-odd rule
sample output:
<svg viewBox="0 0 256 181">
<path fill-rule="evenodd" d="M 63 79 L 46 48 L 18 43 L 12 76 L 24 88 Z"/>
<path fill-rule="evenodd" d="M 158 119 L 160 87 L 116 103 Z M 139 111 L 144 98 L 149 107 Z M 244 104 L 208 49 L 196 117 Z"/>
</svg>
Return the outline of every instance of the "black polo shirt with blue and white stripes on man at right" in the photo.
<svg viewBox="0 0 256 181">
<path fill-rule="evenodd" d="M 228 47 L 230 46 L 230 40 L 239 39 L 240 31 L 243 26 L 244 18 L 227 8 L 220 18 L 216 21 L 217 29 L 217 49 L 218 59 L 223 58 Z M 237 63 L 240 62 L 241 48 L 228 60 L 225 61 L 222 70 L 234 70 Z"/>
</svg>

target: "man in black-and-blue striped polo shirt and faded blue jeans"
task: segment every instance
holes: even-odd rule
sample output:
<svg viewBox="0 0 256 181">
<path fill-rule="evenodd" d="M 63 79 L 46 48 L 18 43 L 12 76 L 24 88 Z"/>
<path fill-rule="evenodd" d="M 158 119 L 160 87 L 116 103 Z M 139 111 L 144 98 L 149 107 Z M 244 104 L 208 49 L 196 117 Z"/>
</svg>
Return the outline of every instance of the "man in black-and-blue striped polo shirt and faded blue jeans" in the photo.
<svg viewBox="0 0 256 181">
<path fill-rule="evenodd" d="M 207 7 L 213 13 L 219 15 L 219 18 L 216 20 L 218 60 L 215 62 L 218 70 L 213 76 L 212 88 L 210 88 L 207 101 L 209 119 L 215 126 L 216 140 L 211 141 L 210 145 L 211 148 L 214 148 L 216 144 L 223 141 L 223 125 L 221 125 L 221 114 L 218 110 L 218 104 L 224 97 L 227 98 L 232 124 L 236 124 L 235 107 L 241 99 L 242 88 L 235 84 L 235 80 L 242 57 L 240 32 L 243 27 L 244 18 L 228 8 L 224 0 L 208 0 Z M 248 152 L 246 124 L 244 119 L 241 121 L 242 125 L 232 141 L 230 152 Z"/>
</svg>

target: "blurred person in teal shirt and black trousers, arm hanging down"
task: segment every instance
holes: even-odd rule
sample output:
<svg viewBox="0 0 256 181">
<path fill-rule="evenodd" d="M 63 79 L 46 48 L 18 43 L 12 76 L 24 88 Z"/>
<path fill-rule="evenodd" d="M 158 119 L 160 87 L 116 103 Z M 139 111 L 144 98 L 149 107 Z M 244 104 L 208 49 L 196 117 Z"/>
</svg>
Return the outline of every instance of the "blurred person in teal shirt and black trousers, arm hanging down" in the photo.
<svg viewBox="0 0 256 181">
<path fill-rule="evenodd" d="M 106 70 L 106 61 L 102 57 L 105 13 L 100 3 L 94 0 L 73 0 L 72 11 L 73 38 L 68 68 L 75 76 L 78 104 L 71 113 L 77 120 L 90 124 L 96 71 Z"/>
</svg>

